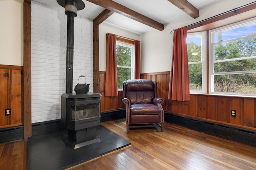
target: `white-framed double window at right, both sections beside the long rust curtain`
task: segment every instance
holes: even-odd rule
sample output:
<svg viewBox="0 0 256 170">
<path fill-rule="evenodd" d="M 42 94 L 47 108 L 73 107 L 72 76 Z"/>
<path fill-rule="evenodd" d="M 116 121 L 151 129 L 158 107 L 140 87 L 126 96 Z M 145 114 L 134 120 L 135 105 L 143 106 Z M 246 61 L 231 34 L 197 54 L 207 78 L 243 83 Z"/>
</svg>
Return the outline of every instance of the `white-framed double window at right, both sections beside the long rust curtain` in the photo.
<svg viewBox="0 0 256 170">
<path fill-rule="evenodd" d="M 187 36 L 190 93 L 255 96 L 256 18 L 210 30 L 208 35 Z"/>
</svg>

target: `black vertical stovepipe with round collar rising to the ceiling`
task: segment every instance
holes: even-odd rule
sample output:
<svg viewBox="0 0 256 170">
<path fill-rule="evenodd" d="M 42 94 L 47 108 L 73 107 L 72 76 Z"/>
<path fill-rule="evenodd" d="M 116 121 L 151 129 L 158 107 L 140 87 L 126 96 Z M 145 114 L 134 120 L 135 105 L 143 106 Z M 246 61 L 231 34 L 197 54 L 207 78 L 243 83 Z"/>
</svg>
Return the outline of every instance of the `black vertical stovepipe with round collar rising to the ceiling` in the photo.
<svg viewBox="0 0 256 170">
<path fill-rule="evenodd" d="M 65 8 L 67 19 L 66 93 L 72 93 L 74 63 L 74 17 L 77 10 L 84 9 L 82 0 L 57 0 Z"/>
</svg>

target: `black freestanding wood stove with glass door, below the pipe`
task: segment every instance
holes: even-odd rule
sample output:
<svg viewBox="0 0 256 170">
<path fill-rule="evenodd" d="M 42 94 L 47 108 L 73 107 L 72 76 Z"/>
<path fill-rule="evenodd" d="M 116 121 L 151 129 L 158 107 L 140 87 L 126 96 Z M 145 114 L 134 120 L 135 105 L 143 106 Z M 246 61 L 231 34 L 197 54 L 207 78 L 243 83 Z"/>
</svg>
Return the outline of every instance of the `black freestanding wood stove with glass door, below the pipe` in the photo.
<svg viewBox="0 0 256 170">
<path fill-rule="evenodd" d="M 65 93 L 61 96 L 61 124 L 68 129 L 62 135 L 64 143 L 79 148 L 100 142 L 96 127 L 100 125 L 100 98 L 98 93 Z"/>
</svg>

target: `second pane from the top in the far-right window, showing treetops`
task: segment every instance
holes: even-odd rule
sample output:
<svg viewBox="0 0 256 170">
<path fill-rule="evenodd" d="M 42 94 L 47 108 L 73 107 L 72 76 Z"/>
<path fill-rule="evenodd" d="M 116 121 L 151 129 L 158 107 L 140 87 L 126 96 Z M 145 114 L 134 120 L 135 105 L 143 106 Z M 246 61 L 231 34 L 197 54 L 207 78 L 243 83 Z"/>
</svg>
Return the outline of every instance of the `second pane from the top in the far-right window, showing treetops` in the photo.
<svg viewBox="0 0 256 170">
<path fill-rule="evenodd" d="M 214 60 L 256 56 L 256 37 L 214 45 Z"/>
</svg>

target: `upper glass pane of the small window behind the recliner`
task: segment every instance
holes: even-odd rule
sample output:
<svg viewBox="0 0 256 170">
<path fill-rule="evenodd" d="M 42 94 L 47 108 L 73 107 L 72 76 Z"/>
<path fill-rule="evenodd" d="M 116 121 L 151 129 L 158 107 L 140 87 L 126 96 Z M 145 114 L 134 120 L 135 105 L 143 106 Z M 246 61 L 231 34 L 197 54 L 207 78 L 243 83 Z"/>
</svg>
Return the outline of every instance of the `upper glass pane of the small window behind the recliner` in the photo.
<svg viewBox="0 0 256 170">
<path fill-rule="evenodd" d="M 116 62 L 119 66 L 131 66 L 131 48 L 116 45 Z"/>
</svg>

